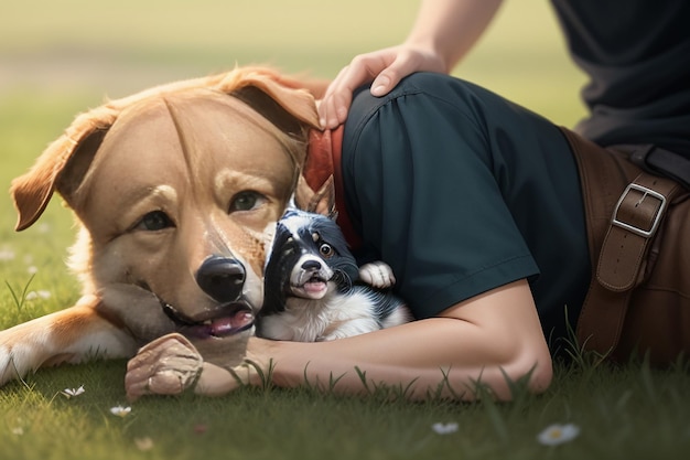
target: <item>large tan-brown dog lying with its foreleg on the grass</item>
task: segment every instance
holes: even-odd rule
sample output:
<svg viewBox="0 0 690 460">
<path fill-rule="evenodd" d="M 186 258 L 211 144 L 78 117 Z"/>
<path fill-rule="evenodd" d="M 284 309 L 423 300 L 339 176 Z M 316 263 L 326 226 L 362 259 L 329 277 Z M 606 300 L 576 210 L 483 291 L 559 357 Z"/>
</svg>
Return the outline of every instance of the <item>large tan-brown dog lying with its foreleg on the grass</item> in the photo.
<svg viewBox="0 0 690 460">
<path fill-rule="evenodd" d="M 41 366 L 128 357 L 179 332 L 239 362 L 276 221 L 317 128 L 314 83 L 263 68 L 159 86 L 80 115 L 12 183 L 17 229 L 57 191 L 80 231 L 84 297 L 0 332 L 0 384 Z M 222 356 L 222 357 L 220 357 Z"/>
</svg>

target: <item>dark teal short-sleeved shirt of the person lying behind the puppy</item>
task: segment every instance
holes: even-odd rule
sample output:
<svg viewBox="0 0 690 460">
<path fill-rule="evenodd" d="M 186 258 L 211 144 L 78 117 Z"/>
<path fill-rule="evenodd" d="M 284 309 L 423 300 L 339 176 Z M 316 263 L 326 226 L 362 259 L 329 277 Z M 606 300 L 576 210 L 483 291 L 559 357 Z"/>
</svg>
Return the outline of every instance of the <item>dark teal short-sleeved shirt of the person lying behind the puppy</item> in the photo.
<svg viewBox="0 0 690 460">
<path fill-rule="evenodd" d="M 546 119 L 460 79 L 414 74 L 355 95 L 347 212 L 417 318 L 526 278 L 545 334 L 574 327 L 590 281 L 578 170 Z"/>
</svg>

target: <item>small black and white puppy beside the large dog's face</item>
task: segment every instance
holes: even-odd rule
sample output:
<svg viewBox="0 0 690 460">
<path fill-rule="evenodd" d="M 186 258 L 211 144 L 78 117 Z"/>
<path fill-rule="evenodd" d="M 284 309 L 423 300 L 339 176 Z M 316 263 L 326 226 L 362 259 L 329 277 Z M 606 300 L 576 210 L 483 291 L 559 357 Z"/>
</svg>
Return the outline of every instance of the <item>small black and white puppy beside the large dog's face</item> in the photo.
<svg viewBox="0 0 690 460">
<path fill-rule="evenodd" d="M 412 317 L 386 289 L 392 284 L 384 263 L 357 267 L 335 221 L 289 210 L 268 257 L 257 334 L 315 342 L 402 324 Z"/>
</svg>

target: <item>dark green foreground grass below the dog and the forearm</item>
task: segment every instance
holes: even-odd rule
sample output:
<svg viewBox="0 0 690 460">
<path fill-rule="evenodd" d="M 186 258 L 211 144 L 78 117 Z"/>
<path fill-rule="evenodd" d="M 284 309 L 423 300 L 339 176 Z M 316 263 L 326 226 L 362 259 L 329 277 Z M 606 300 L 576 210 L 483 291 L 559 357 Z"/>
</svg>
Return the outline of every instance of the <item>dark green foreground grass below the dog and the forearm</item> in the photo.
<svg viewBox="0 0 690 460">
<path fill-rule="evenodd" d="M 687 368 L 559 366 L 543 395 L 510 404 L 389 400 L 308 391 L 241 389 L 222 398 L 150 398 L 121 405 L 123 362 L 52 368 L 0 393 L 4 459 L 675 459 L 690 448 Z M 86 392 L 67 399 L 65 387 Z M 438 435 L 435 422 L 459 430 Z M 541 429 L 572 422 L 565 445 L 537 442 Z M 150 450 L 138 442 L 149 439 Z"/>
</svg>

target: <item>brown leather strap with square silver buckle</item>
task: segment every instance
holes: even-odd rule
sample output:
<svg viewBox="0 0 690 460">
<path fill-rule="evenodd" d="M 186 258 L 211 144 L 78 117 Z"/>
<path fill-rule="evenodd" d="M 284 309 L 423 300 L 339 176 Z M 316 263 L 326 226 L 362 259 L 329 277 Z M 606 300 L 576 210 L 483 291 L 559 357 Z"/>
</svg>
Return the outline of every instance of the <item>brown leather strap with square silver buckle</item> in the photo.
<svg viewBox="0 0 690 460">
<path fill-rule="evenodd" d="M 648 159 L 645 146 L 603 148 L 567 128 L 561 131 L 578 162 L 592 261 L 576 338 L 584 349 L 615 357 L 628 304 L 649 275 L 650 248 L 658 244 L 653 239 L 667 210 L 656 193 L 670 203 L 681 189 L 632 161 Z"/>
</svg>

